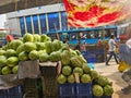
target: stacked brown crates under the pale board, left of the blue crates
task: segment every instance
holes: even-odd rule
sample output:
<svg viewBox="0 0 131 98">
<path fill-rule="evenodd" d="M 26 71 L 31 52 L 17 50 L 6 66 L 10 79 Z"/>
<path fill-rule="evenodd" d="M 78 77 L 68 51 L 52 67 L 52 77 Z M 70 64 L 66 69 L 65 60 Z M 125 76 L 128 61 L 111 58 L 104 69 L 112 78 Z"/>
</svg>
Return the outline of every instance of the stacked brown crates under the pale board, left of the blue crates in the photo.
<svg viewBox="0 0 131 98">
<path fill-rule="evenodd" d="M 57 66 L 40 66 L 44 98 L 58 98 Z"/>
</svg>

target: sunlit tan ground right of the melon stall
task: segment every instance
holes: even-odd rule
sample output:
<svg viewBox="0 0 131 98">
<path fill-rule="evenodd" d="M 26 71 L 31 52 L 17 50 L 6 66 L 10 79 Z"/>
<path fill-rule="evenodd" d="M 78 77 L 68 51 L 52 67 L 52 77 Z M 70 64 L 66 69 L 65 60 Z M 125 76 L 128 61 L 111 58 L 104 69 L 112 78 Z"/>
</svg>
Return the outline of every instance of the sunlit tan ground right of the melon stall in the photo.
<svg viewBox="0 0 131 98">
<path fill-rule="evenodd" d="M 127 86 L 127 83 L 121 78 L 122 73 L 118 71 L 118 64 L 114 60 L 109 62 L 110 65 L 105 65 L 105 63 L 95 63 L 95 70 L 102 75 L 105 75 L 112 82 L 114 95 L 112 98 L 131 98 L 131 93 L 124 95 L 121 88 Z"/>
</svg>

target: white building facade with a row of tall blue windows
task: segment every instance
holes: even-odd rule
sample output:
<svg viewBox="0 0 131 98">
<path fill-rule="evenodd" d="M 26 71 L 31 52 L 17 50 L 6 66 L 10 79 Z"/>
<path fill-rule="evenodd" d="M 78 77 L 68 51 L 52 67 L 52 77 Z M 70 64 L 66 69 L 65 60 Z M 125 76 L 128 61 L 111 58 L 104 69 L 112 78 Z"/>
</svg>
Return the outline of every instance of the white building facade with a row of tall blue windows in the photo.
<svg viewBox="0 0 131 98">
<path fill-rule="evenodd" d="M 8 26 L 13 35 L 50 34 L 68 30 L 67 13 L 62 3 L 37 7 L 7 13 Z"/>
</svg>

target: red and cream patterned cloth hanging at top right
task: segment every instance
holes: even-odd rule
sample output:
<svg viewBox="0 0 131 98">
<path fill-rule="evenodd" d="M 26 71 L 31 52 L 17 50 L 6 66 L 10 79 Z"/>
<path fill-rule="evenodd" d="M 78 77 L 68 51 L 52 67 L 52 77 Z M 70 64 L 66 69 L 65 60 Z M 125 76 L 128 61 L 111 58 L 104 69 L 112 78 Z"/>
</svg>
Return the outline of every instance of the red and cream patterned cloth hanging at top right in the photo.
<svg viewBox="0 0 131 98">
<path fill-rule="evenodd" d="M 130 15 L 130 0 L 63 0 L 68 25 L 72 27 L 104 26 Z"/>
</svg>

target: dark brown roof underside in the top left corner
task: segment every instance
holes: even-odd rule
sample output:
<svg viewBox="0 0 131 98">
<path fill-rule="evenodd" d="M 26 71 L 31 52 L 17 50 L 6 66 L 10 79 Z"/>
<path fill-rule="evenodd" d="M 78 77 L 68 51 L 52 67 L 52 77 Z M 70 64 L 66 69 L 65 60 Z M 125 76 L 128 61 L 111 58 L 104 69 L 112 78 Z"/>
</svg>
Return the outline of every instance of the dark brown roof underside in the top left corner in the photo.
<svg viewBox="0 0 131 98">
<path fill-rule="evenodd" d="M 46 5 L 60 3 L 62 0 L 0 0 L 0 14 Z"/>
</svg>

